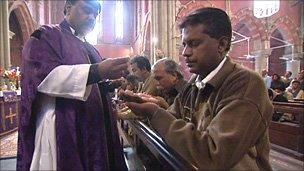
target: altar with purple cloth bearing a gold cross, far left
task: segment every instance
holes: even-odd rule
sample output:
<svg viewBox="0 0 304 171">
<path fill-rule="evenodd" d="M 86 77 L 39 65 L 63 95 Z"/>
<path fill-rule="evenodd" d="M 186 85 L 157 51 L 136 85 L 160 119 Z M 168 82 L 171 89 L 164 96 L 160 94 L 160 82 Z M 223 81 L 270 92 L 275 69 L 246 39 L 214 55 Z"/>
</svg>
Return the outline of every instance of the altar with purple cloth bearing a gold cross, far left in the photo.
<svg viewBox="0 0 304 171">
<path fill-rule="evenodd" d="M 0 137 L 18 129 L 18 116 L 21 113 L 21 97 L 16 91 L 0 93 Z"/>
</svg>

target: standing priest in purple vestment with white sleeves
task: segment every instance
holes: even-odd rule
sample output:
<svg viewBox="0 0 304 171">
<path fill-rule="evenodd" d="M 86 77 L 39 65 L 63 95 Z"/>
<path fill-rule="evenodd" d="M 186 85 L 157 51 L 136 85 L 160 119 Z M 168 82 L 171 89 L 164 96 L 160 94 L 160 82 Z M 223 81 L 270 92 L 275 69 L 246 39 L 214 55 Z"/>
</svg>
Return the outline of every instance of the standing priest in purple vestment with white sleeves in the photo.
<svg viewBox="0 0 304 171">
<path fill-rule="evenodd" d="M 66 0 L 64 21 L 40 27 L 24 46 L 17 170 L 127 169 L 97 83 L 123 76 L 129 59 L 102 60 L 85 41 L 100 10 L 97 0 Z"/>
</svg>

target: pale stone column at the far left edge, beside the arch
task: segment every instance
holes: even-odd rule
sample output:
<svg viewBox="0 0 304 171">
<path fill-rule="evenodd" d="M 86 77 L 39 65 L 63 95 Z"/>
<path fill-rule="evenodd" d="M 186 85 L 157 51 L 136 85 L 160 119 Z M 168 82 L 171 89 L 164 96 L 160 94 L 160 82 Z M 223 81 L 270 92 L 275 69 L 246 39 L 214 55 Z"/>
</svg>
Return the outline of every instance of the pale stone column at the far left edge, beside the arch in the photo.
<svg viewBox="0 0 304 171">
<path fill-rule="evenodd" d="M 8 1 L 0 1 L 0 67 L 10 67 Z"/>
</svg>

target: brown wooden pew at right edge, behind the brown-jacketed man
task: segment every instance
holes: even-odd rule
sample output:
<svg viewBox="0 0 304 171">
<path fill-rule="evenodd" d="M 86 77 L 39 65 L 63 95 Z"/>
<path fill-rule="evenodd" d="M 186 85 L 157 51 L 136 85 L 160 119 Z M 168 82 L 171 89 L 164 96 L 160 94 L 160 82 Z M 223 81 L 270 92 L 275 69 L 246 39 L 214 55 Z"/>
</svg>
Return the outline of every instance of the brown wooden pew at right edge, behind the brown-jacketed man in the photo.
<svg viewBox="0 0 304 171">
<path fill-rule="evenodd" d="M 292 114 L 296 119 L 291 122 L 271 121 L 269 137 L 272 148 L 284 154 L 303 160 L 304 103 L 302 102 L 273 102 L 275 112 Z"/>
</svg>

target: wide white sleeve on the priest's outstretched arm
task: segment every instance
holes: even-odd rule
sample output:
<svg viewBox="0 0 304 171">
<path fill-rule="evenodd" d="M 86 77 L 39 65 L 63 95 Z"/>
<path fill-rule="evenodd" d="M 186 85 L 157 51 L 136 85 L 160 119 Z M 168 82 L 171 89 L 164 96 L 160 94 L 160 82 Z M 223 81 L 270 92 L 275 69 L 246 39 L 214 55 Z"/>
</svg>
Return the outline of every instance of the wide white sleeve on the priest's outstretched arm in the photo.
<svg viewBox="0 0 304 171">
<path fill-rule="evenodd" d="M 90 64 L 61 65 L 53 69 L 38 86 L 38 91 L 52 97 L 86 101 L 92 86 L 87 86 Z"/>
</svg>

